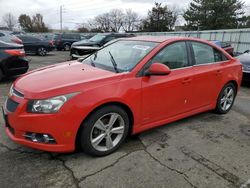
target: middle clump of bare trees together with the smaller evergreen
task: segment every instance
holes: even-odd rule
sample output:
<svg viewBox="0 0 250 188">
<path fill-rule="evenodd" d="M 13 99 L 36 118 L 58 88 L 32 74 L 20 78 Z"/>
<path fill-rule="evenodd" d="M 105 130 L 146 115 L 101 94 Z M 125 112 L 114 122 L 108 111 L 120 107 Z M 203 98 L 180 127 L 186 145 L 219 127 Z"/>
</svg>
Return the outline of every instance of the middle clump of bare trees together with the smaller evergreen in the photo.
<svg viewBox="0 0 250 188">
<path fill-rule="evenodd" d="M 113 9 L 97 15 L 78 28 L 80 32 L 125 32 L 172 31 L 177 19 L 177 11 L 167 5 L 155 3 L 146 18 L 141 18 L 131 9 Z"/>
</svg>

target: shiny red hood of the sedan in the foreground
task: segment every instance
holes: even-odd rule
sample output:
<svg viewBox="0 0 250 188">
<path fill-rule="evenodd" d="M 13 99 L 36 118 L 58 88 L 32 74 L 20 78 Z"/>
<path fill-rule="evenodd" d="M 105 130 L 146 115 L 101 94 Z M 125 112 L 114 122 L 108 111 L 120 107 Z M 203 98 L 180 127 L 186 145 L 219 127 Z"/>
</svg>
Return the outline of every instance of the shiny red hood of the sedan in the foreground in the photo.
<svg viewBox="0 0 250 188">
<path fill-rule="evenodd" d="M 70 61 L 31 71 L 16 80 L 14 88 L 27 99 L 45 99 L 108 84 L 122 75 Z"/>
</svg>

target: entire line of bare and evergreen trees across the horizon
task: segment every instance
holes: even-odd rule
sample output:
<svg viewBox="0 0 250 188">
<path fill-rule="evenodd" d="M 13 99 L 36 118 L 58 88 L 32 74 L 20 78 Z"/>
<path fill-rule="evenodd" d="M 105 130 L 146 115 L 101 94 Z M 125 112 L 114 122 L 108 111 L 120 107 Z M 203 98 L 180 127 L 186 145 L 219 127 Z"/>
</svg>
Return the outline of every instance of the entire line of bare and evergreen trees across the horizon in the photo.
<svg viewBox="0 0 250 188">
<path fill-rule="evenodd" d="M 79 32 L 162 32 L 173 31 L 176 20 L 182 17 L 183 30 L 232 29 L 250 27 L 250 16 L 245 14 L 241 0 L 192 0 L 185 10 L 155 3 L 146 17 L 131 9 L 112 9 L 85 21 L 78 27 Z M 17 21 L 6 14 L 2 19 L 12 29 Z M 26 32 L 48 32 L 41 14 L 22 14 L 18 23 Z"/>
</svg>

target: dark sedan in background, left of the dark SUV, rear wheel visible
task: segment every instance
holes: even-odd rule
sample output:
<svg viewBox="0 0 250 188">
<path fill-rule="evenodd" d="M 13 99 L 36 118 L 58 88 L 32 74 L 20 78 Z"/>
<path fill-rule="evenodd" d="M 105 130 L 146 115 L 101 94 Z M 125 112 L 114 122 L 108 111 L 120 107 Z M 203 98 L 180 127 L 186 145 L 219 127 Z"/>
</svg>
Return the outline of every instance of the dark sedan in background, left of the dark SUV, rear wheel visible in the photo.
<svg viewBox="0 0 250 188">
<path fill-rule="evenodd" d="M 18 35 L 18 37 L 23 41 L 24 50 L 26 53 L 35 53 L 45 56 L 48 52 L 55 49 L 53 40 L 43 40 L 41 38 L 29 35 Z"/>
</svg>

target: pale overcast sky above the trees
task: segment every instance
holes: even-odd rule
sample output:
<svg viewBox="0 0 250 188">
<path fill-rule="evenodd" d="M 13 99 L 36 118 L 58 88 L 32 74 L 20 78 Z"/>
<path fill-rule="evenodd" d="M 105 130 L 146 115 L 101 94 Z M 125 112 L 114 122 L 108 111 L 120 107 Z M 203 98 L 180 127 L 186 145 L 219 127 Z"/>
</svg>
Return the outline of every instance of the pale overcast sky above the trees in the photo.
<svg viewBox="0 0 250 188">
<path fill-rule="evenodd" d="M 60 5 L 63 5 L 63 27 L 75 29 L 78 24 L 114 8 L 132 9 L 146 16 L 155 1 L 184 9 L 191 0 L 0 0 L 0 25 L 2 16 L 9 12 L 17 18 L 20 14 L 41 13 L 50 28 L 59 29 Z M 250 5 L 250 0 L 245 2 Z"/>
</svg>

